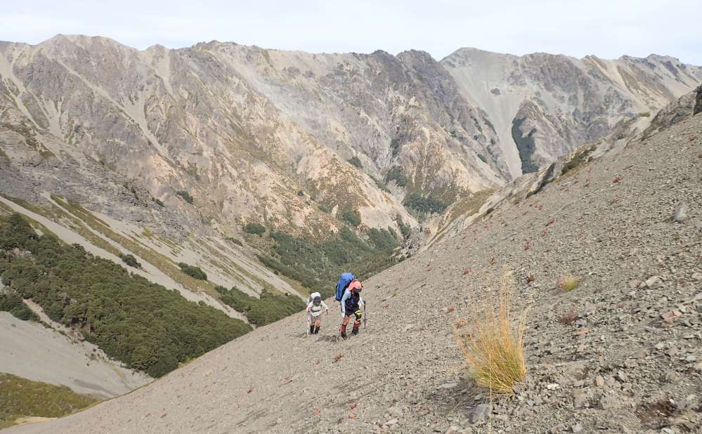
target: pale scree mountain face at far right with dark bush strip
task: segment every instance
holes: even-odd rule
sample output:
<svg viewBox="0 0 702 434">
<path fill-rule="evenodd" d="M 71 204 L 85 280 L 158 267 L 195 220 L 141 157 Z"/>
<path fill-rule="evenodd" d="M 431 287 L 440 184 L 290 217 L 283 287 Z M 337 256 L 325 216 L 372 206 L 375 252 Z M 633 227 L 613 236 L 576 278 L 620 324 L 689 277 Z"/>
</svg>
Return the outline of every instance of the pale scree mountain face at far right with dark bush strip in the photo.
<svg viewBox="0 0 702 434">
<path fill-rule="evenodd" d="M 606 60 L 462 48 L 441 64 L 495 126 L 514 176 L 656 112 L 702 81 L 702 68 L 654 54 Z"/>
</svg>

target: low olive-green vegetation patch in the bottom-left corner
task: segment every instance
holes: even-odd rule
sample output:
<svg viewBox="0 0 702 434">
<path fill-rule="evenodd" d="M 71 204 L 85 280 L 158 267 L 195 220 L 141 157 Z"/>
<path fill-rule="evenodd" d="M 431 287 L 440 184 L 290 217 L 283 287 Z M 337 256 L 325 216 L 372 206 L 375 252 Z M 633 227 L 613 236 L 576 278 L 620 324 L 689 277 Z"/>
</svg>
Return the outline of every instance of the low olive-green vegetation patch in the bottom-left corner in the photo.
<svg viewBox="0 0 702 434">
<path fill-rule="evenodd" d="M 0 372 L 0 428 L 22 417 L 60 417 L 88 407 L 98 398 L 81 395 L 66 386 L 22 379 Z"/>
</svg>

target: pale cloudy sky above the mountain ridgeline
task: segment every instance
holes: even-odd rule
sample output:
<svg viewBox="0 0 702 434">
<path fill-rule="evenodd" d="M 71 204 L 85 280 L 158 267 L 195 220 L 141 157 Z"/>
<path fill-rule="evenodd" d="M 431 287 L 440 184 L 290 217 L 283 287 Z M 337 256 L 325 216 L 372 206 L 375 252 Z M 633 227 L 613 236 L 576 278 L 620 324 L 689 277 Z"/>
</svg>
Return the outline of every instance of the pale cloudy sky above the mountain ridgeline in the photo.
<svg viewBox="0 0 702 434">
<path fill-rule="evenodd" d="M 413 48 L 440 60 L 469 46 L 702 65 L 702 0 L 0 0 L 0 40 L 37 44 L 59 33 L 141 49 L 216 39 L 313 53 Z"/>
</svg>

